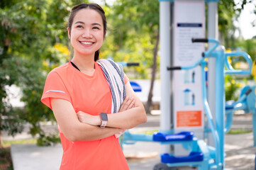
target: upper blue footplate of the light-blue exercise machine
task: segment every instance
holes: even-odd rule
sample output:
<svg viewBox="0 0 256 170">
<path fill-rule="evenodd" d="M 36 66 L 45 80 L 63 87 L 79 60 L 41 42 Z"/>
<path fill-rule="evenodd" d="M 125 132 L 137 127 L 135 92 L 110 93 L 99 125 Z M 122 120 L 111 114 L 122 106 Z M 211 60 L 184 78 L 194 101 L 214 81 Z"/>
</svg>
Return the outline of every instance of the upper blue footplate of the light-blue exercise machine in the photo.
<svg viewBox="0 0 256 170">
<path fill-rule="evenodd" d="M 171 142 L 171 141 L 189 141 L 193 140 L 193 132 L 179 132 L 172 135 L 167 135 L 161 132 L 153 134 L 153 141 L 155 142 Z"/>
</svg>

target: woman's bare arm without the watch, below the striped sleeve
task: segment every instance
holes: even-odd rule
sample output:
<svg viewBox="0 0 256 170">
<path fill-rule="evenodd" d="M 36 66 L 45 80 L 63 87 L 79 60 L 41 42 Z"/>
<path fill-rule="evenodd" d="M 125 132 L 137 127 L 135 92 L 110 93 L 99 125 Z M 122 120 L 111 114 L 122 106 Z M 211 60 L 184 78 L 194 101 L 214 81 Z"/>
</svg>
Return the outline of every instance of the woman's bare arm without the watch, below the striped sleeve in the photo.
<svg viewBox="0 0 256 170">
<path fill-rule="evenodd" d="M 99 128 L 98 126 L 81 123 L 69 101 L 52 98 L 52 111 L 65 137 L 70 141 L 100 140 L 122 132 L 120 128 Z"/>
</svg>

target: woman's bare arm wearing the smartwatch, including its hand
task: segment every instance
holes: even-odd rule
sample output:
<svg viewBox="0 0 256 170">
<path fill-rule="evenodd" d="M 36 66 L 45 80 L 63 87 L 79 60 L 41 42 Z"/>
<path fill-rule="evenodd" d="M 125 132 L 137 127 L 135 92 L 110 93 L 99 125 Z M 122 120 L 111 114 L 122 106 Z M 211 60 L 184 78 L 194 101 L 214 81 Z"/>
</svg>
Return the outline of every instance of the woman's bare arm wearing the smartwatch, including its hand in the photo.
<svg viewBox="0 0 256 170">
<path fill-rule="evenodd" d="M 106 124 L 106 127 L 130 129 L 141 123 L 147 122 L 147 115 L 143 103 L 135 94 L 129 82 L 126 84 L 126 96 L 133 98 L 133 107 L 126 111 L 108 114 L 108 123 Z M 99 115 L 89 115 L 87 113 L 79 112 L 77 116 L 83 123 L 88 123 L 89 125 L 101 125 Z"/>
</svg>

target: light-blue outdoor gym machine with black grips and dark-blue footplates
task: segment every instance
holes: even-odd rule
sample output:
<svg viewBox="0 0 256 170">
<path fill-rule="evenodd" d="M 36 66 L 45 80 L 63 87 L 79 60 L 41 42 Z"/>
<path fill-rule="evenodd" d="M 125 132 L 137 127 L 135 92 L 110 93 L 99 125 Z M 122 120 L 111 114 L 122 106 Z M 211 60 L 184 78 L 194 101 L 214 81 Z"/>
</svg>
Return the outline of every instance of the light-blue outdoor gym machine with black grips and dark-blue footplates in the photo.
<svg viewBox="0 0 256 170">
<path fill-rule="evenodd" d="M 224 169 L 224 134 L 230 128 L 232 124 L 233 111 L 238 109 L 238 104 L 241 104 L 245 108 L 250 108 L 250 110 L 255 111 L 254 108 L 249 106 L 248 102 L 244 102 L 247 96 L 250 96 L 249 91 L 246 93 L 241 93 L 240 100 L 235 103 L 227 105 L 227 108 L 231 108 L 227 111 L 227 118 L 225 123 L 225 93 L 224 93 L 224 77 L 225 74 L 250 74 L 252 67 L 252 60 L 250 56 L 245 52 L 224 52 L 224 47 L 219 46 L 218 40 L 214 39 L 192 39 L 192 42 L 209 42 L 213 43 L 213 46 L 209 48 L 206 52 L 202 53 L 202 58 L 198 62 L 187 67 L 169 67 L 168 70 L 176 69 L 192 69 L 199 64 L 201 65 L 201 87 L 202 87 L 202 98 L 204 103 L 204 111 L 208 120 L 208 125 L 210 126 L 210 131 L 213 135 L 215 147 L 206 145 L 204 140 L 198 140 L 194 137 L 193 132 L 179 132 L 177 134 L 172 134 L 173 130 L 170 130 L 169 134 L 164 134 L 157 132 L 153 135 L 141 135 L 141 134 L 131 134 L 129 131 L 125 132 L 122 139 L 122 144 L 133 144 L 137 141 L 147 141 L 147 142 L 160 142 L 161 145 L 174 145 L 182 144 L 185 149 L 189 150 L 190 154 L 187 157 L 175 157 L 172 154 L 166 153 L 161 155 L 161 162 L 164 164 L 157 164 L 154 169 L 167 169 L 169 166 L 197 166 L 199 169 Z M 250 66 L 249 70 L 237 70 L 233 69 L 230 63 L 228 63 L 228 57 L 242 56 L 245 58 Z M 213 116 L 211 110 L 208 106 L 207 93 L 206 93 L 206 58 L 215 57 L 216 58 L 216 123 L 213 122 Z M 226 70 L 224 66 L 226 65 Z M 252 98 L 255 96 L 252 96 Z M 255 99 L 254 99 L 255 100 Z M 227 109 L 226 109 L 227 110 Z M 254 114 L 255 117 L 255 114 Z M 226 125 L 226 127 L 225 127 Z M 253 126 L 253 131 L 255 132 L 255 125 Z"/>
</svg>

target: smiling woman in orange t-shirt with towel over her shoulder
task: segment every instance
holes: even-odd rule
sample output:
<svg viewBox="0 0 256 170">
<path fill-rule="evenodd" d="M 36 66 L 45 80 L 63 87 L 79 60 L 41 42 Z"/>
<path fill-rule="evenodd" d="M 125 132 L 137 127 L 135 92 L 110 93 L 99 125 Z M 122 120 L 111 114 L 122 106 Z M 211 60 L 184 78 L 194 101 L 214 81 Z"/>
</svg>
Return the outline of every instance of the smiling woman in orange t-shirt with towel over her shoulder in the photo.
<svg viewBox="0 0 256 170">
<path fill-rule="evenodd" d="M 60 169 L 129 169 L 118 134 L 147 118 L 128 77 L 111 72 L 123 70 L 108 69 L 109 63 L 117 67 L 108 60 L 96 62 L 106 35 L 104 10 L 97 4 L 74 6 L 67 32 L 74 56 L 48 74 L 41 98 L 59 126 L 63 148 Z M 108 76 L 121 83 L 115 84 Z M 113 86 L 118 89 L 116 97 Z"/>
</svg>

